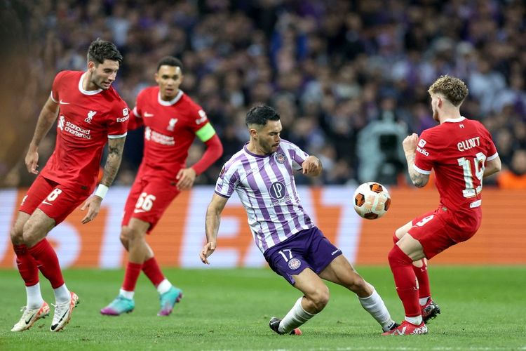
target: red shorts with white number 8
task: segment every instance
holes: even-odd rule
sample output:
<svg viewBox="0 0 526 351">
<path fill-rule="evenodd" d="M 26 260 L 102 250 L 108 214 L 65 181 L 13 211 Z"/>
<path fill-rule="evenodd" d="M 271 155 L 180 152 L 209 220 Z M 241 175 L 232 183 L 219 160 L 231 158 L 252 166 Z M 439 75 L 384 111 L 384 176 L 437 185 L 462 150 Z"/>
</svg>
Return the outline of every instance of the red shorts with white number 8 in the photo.
<svg viewBox="0 0 526 351">
<path fill-rule="evenodd" d="M 36 208 L 39 208 L 49 218 L 55 220 L 55 225 L 58 225 L 89 196 L 90 194 L 79 193 L 72 189 L 70 185 L 60 185 L 39 175 L 27 190 L 19 211 L 31 215 Z"/>
</svg>

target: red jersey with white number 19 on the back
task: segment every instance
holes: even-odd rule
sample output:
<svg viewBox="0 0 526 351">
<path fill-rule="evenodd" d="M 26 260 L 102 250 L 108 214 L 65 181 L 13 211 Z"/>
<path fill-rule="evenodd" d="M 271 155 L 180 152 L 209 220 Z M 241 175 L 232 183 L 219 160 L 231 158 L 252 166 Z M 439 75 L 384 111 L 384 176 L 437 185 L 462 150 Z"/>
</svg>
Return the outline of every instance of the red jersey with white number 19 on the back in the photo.
<svg viewBox="0 0 526 351">
<path fill-rule="evenodd" d="M 420 135 L 414 169 L 429 174 L 434 168 L 440 206 L 480 220 L 485 164 L 497 156 L 490 132 L 479 121 L 447 119 Z"/>
</svg>

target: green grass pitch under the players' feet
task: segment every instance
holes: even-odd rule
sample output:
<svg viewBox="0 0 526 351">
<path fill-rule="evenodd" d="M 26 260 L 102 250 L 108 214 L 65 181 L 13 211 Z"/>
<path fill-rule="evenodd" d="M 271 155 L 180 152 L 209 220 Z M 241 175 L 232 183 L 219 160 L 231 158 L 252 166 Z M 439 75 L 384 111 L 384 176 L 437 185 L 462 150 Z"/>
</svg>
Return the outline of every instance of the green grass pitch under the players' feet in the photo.
<svg viewBox="0 0 526 351">
<path fill-rule="evenodd" d="M 376 286 L 391 316 L 403 308 L 388 267 L 357 267 Z M 157 317 L 159 300 L 143 276 L 135 311 L 120 317 L 99 313 L 118 292 L 123 271 L 67 270 L 69 289 L 79 294 L 64 331 L 49 331 L 50 318 L 22 333 L 25 290 L 18 272 L 0 270 L 0 350 L 525 350 L 526 267 L 433 267 L 433 297 L 442 314 L 426 336 L 385 337 L 356 296 L 329 284 L 330 302 L 302 326 L 303 336 L 278 336 L 271 316 L 283 317 L 300 296 L 271 270 L 166 270 L 184 291 L 170 317 Z M 43 296 L 53 303 L 48 282 Z M 52 312 L 53 313 L 53 307 Z"/>
</svg>

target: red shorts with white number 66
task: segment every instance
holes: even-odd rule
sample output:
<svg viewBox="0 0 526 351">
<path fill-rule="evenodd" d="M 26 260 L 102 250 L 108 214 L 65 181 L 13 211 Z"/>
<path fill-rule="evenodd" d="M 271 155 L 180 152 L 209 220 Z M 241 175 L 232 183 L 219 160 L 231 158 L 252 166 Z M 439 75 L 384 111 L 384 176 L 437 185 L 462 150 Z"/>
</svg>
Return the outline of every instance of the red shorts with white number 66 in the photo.
<svg viewBox="0 0 526 351">
<path fill-rule="evenodd" d="M 165 178 L 138 175 L 124 206 L 122 225 L 128 225 L 130 218 L 137 218 L 150 223 L 147 233 L 151 232 L 180 193 L 175 184 L 175 181 Z"/>
</svg>

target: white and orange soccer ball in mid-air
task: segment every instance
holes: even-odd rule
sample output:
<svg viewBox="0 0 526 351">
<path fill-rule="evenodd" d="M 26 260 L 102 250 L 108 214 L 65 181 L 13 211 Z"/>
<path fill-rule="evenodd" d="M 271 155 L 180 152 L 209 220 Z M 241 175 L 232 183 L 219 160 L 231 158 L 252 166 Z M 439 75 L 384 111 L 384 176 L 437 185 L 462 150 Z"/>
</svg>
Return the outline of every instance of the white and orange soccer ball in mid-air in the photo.
<svg viewBox="0 0 526 351">
<path fill-rule="evenodd" d="M 353 205 L 356 213 L 365 219 L 377 219 L 389 210 L 391 196 L 380 183 L 363 183 L 354 191 Z"/>
</svg>

